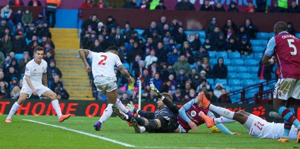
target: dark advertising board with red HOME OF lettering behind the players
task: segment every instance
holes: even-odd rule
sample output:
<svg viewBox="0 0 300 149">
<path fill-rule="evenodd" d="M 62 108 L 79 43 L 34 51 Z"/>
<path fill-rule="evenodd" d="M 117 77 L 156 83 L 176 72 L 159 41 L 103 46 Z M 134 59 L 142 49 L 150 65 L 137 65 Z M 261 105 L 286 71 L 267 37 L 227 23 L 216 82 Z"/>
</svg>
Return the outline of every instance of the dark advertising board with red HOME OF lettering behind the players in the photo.
<svg viewBox="0 0 300 149">
<path fill-rule="evenodd" d="M 1 99 L 0 100 L 0 115 L 8 114 L 11 106 L 16 100 L 12 99 Z M 78 100 L 61 100 L 59 101 L 60 108 L 63 114 L 71 114 L 72 116 L 86 116 L 94 117 L 101 116 L 107 103 L 104 101 L 78 101 Z M 181 108 L 185 102 L 174 102 L 178 108 Z M 127 102 L 123 102 L 127 104 Z M 237 112 L 239 110 L 244 110 L 246 112 L 252 113 L 259 116 L 267 121 L 280 120 L 273 119 L 269 116 L 269 112 L 274 111 L 273 105 L 252 105 L 252 104 L 219 104 L 214 105 L 224 107 L 230 111 Z M 137 104 L 135 105 L 137 107 Z M 156 103 L 154 102 L 141 102 L 141 109 L 145 111 L 156 110 Z M 299 113 L 299 114 L 298 114 Z M 55 111 L 52 108 L 50 100 L 33 100 L 28 99 L 24 104 L 20 106 L 17 110 L 16 115 L 55 115 Z M 300 119 L 300 106 L 295 106 L 295 115 L 297 119 Z M 218 117 L 216 115 L 216 117 Z"/>
</svg>

